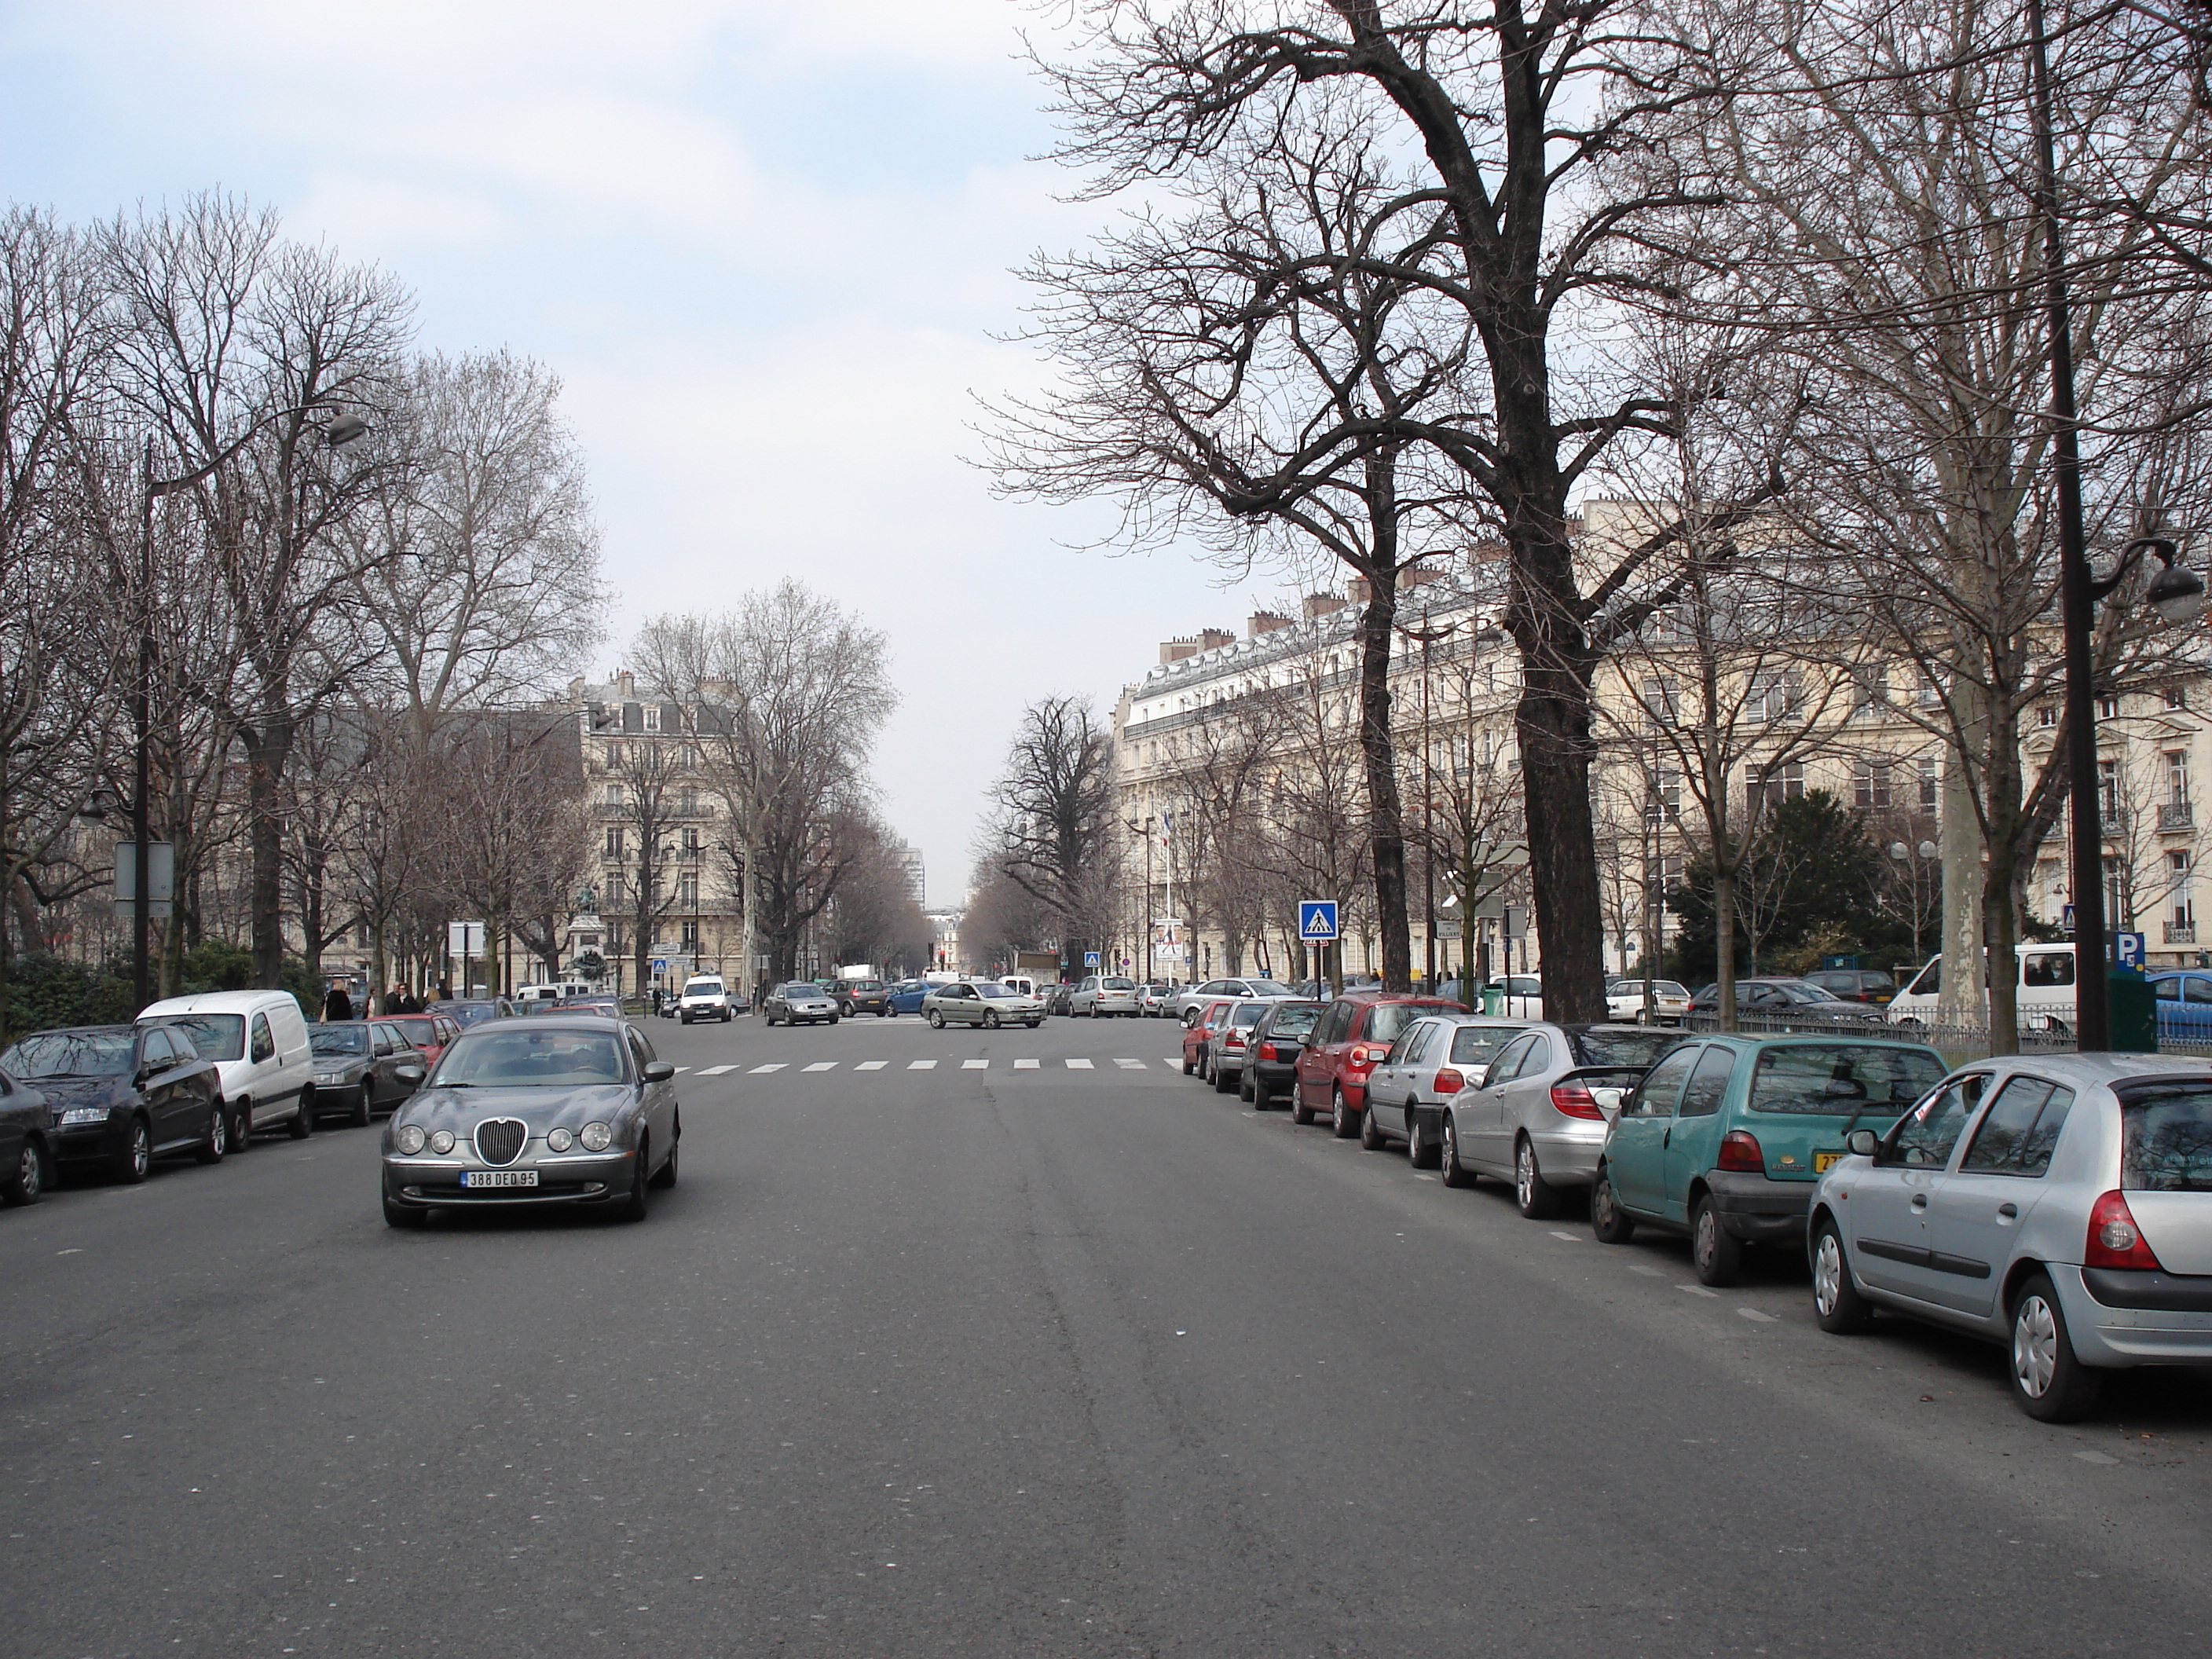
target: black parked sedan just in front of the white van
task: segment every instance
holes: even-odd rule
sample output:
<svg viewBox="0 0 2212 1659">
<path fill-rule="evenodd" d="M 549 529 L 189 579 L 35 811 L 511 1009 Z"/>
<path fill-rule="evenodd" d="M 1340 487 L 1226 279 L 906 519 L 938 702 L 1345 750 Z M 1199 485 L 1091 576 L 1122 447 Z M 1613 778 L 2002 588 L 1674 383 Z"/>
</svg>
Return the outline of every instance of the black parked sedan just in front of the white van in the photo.
<svg viewBox="0 0 2212 1659">
<path fill-rule="evenodd" d="M 230 1150 L 215 1062 L 168 1026 L 33 1031 L 0 1071 L 46 1097 L 46 1146 L 64 1170 L 135 1183 L 157 1157 L 221 1164 Z"/>
</svg>

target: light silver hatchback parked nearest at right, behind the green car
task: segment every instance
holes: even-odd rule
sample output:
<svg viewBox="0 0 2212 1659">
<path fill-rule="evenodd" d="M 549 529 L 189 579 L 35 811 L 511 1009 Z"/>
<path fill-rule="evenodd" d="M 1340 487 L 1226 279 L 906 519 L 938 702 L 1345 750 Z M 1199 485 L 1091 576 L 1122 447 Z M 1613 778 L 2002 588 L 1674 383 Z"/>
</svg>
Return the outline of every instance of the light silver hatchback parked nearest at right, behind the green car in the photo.
<svg viewBox="0 0 2212 1659">
<path fill-rule="evenodd" d="M 1984 1060 L 1845 1148 L 1805 1232 L 1823 1329 L 1882 1307 L 2004 1343 L 2044 1422 L 2106 1369 L 2212 1365 L 2212 1062 Z"/>
</svg>

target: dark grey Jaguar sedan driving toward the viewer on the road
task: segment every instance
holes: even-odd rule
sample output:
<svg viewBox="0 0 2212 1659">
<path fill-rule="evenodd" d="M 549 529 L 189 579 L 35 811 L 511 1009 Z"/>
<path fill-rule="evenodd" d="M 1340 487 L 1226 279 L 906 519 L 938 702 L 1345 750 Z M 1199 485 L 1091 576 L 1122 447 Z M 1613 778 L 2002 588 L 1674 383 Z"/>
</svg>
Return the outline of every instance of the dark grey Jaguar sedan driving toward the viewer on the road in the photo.
<svg viewBox="0 0 2212 1659">
<path fill-rule="evenodd" d="M 434 1210 L 571 1203 L 646 1219 L 646 1188 L 677 1183 L 675 1066 L 626 1020 L 551 1013 L 487 1020 L 385 1124 L 383 1201 L 394 1228 Z"/>
</svg>

